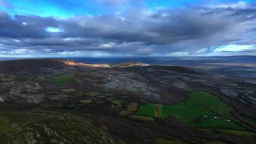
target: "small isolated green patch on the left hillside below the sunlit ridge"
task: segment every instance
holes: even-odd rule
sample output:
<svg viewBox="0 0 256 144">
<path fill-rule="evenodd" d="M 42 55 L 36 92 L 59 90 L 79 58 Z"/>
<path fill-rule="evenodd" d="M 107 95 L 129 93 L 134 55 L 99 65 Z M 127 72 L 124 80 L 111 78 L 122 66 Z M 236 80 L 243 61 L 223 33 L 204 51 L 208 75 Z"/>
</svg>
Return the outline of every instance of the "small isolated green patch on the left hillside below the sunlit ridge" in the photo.
<svg viewBox="0 0 256 144">
<path fill-rule="evenodd" d="M 54 83 L 67 83 L 73 79 L 74 74 L 63 74 L 58 76 L 47 74 L 45 77 L 48 79 L 54 79 Z"/>
</svg>

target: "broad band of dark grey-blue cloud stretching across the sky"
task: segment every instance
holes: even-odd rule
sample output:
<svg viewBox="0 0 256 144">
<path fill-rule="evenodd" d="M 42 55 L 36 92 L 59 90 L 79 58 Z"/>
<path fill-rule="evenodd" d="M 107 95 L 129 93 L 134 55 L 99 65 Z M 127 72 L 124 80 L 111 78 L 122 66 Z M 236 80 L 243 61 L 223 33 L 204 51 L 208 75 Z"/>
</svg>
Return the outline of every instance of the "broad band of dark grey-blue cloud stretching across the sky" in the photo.
<svg viewBox="0 0 256 144">
<path fill-rule="evenodd" d="M 240 6 L 197 5 L 156 12 L 133 8 L 123 15 L 66 19 L 0 12 L 0 48 L 150 55 L 208 53 L 214 46 L 228 44 L 256 45 L 256 9 Z M 47 27 L 62 32 L 48 32 Z"/>
</svg>

